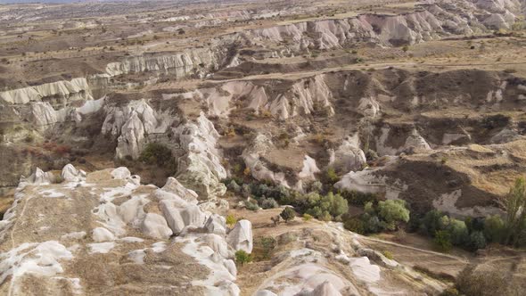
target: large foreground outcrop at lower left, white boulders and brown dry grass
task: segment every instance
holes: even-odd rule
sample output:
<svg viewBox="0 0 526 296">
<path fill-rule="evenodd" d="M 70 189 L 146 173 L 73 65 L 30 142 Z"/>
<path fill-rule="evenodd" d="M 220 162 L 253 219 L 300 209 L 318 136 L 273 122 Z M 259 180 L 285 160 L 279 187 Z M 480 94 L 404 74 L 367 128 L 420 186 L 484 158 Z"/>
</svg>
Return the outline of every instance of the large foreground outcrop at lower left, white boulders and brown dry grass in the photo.
<svg viewBox="0 0 526 296">
<path fill-rule="evenodd" d="M 225 219 L 176 179 L 157 188 L 134 178 L 119 168 L 50 184 L 37 170 L 22 182 L 0 222 L 0 292 L 239 295 L 233 256 L 251 251 L 250 222 L 226 235 Z"/>
</svg>

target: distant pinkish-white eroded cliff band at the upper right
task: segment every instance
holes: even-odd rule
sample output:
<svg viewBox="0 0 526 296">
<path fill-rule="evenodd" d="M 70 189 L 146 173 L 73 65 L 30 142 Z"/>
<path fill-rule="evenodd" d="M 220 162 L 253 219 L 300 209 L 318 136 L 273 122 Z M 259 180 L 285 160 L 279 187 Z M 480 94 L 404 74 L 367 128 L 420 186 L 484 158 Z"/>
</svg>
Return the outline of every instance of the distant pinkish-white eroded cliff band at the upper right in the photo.
<svg viewBox="0 0 526 296">
<path fill-rule="evenodd" d="M 297 22 L 247 32 L 261 45 L 286 42 L 294 51 L 325 50 L 355 42 L 412 45 L 452 35 L 470 35 L 488 29 L 509 29 L 519 15 L 516 1 L 417 4 L 415 12 L 362 14 L 348 19 Z M 514 14 L 516 13 L 516 14 Z"/>
</svg>

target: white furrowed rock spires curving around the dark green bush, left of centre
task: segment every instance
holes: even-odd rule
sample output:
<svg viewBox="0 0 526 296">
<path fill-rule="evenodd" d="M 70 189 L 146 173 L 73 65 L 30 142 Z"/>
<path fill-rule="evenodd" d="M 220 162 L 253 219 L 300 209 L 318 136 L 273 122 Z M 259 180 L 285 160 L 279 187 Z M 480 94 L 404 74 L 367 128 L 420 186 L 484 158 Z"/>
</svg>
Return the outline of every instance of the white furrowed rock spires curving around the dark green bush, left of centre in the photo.
<svg viewBox="0 0 526 296">
<path fill-rule="evenodd" d="M 108 107 L 106 113 L 102 133 L 117 138 L 117 158 L 130 156 L 136 160 L 146 144 L 158 142 L 160 137 L 161 143 L 177 156 L 177 179 L 195 190 L 200 199 L 214 199 L 226 192 L 226 186 L 220 183 L 226 169 L 216 148 L 219 134 L 204 113 L 195 122 L 171 128 L 177 116 L 154 111 L 145 100 Z M 173 136 L 168 138 L 168 132 Z"/>
</svg>

